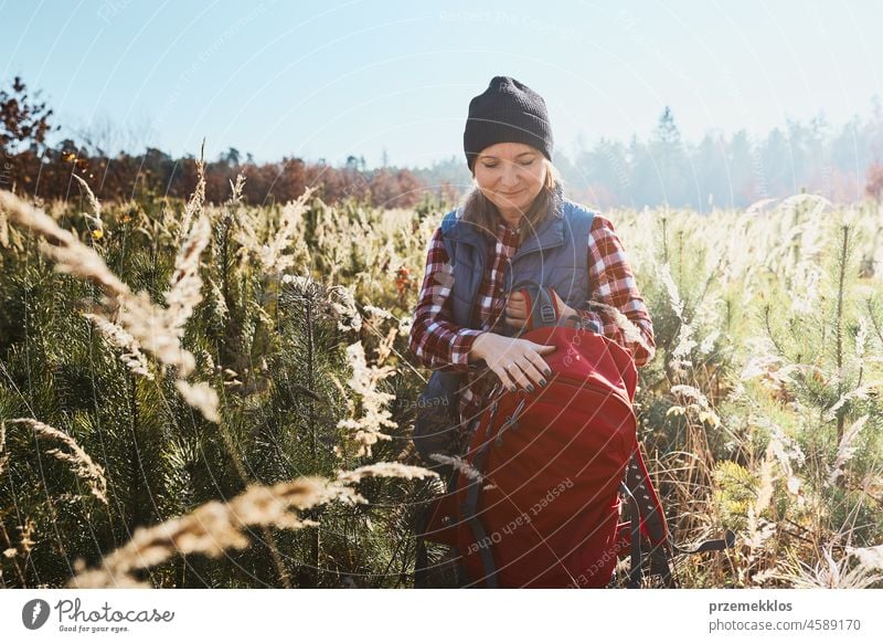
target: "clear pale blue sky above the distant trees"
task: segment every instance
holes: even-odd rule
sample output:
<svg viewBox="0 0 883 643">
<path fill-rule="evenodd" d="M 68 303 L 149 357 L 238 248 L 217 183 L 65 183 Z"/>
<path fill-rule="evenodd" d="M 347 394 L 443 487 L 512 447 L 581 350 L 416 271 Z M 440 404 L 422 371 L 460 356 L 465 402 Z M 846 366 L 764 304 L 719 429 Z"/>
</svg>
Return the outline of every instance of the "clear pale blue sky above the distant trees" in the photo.
<svg viewBox="0 0 883 643">
<path fill-rule="evenodd" d="M 879 2 L 0 0 L 0 82 L 20 74 L 68 129 L 111 145 L 257 160 L 428 165 L 462 154 L 469 99 L 511 75 L 557 146 L 765 134 L 883 96 Z"/>
</svg>

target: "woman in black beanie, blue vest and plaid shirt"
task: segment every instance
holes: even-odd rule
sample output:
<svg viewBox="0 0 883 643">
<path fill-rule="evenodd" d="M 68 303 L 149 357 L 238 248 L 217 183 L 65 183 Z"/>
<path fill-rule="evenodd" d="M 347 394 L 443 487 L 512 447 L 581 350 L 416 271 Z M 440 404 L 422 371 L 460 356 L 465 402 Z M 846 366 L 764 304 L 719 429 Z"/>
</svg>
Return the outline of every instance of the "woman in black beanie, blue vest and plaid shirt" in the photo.
<svg viewBox="0 0 883 643">
<path fill-rule="evenodd" d="M 524 297 L 506 292 L 514 275 L 552 286 L 558 319 L 582 317 L 636 366 L 653 357 L 652 323 L 614 225 L 564 199 L 552 148 L 545 102 L 522 83 L 496 76 L 470 102 L 464 150 L 476 189 L 433 235 L 409 337 L 425 366 L 464 376 L 456 453 L 496 383 L 533 391 L 551 376 L 543 356 L 555 347 L 507 336 L 528 318 Z"/>
</svg>

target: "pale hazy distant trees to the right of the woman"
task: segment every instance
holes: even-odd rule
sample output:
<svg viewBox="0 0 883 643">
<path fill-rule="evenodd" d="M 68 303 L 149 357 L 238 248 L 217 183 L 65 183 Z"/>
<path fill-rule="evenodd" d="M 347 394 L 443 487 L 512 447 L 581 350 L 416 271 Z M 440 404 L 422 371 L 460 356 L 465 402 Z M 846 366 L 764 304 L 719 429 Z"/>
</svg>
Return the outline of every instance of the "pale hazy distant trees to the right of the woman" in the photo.
<svg viewBox="0 0 883 643">
<path fill-rule="evenodd" d="M 573 162 L 556 162 L 574 190 L 602 207 L 709 211 L 802 191 L 837 202 L 874 198 L 881 159 L 883 107 L 874 102 L 870 120 L 854 117 L 839 129 L 819 116 L 808 125 L 788 122 L 763 138 L 706 133 L 698 144 L 682 139 L 667 107 L 649 140 L 600 138 Z"/>
</svg>

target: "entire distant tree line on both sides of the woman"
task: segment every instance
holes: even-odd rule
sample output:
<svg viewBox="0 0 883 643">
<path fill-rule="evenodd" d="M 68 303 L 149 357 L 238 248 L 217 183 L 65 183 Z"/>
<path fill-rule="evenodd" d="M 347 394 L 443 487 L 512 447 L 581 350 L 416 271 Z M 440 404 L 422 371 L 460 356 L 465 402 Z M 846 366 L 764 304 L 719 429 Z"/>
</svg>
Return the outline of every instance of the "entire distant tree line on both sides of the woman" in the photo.
<svg viewBox="0 0 883 643">
<path fill-rule="evenodd" d="M 49 147 L 52 110 L 21 78 L 0 89 L 0 188 L 42 199 L 66 199 L 76 190 L 76 173 L 102 200 L 185 198 L 196 180 L 196 159 L 172 158 L 162 150 L 111 154 L 103 146 L 73 138 Z M 788 122 L 764 138 L 746 131 L 730 137 L 708 133 L 698 144 L 684 141 L 666 107 L 648 140 L 628 143 L 602 137 L 577 146 L 572 157 L 553 160 L 572 198 L 599 208 L 668 204 L 700 212 L 744 208 L 765 198 L 807 191 L 837 202 L 883 197 L 883 107 L 838 130 L 823 117 L 808 125 Z M 453 157 L 429 168 L 369 169 L 350 156 L 341 167 L 323 160 L 283 158 L 255 164 L 252 155 L 230 148 L 206 160 L 206 198 L 224 201 L 230 182 L 244 175 L 249 203 L 286 202 L 307 187 L 327 202 L 355 200 L 384 208 L 433 208 L 450 204 L 471 187 L 464 159 Z"/>
</svg>

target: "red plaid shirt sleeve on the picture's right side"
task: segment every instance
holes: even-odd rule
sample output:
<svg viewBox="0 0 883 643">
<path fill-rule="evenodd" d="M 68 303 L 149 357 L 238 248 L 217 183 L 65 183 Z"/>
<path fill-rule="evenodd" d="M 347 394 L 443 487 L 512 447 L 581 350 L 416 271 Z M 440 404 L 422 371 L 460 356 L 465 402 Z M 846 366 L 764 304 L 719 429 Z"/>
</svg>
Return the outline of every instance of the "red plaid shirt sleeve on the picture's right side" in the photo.
<svg viewBox="0 0 883 643">
<path fill-rule="evenodd" d="M 653 359 L 656 341 L 653 324 L 643 304 L 638 284 L 628 265 L 626 251 L 616 234 L 613 222 L 595 215 L 588 243 L 588 280 L 593 286 L 588 309 L 577 314 L 594 322 L 608 337 L 629 349 L 638 367 Z M 617 317 L 625 315 L 635 325 L 637 334 L 625 331 Z"/>
</svg>

